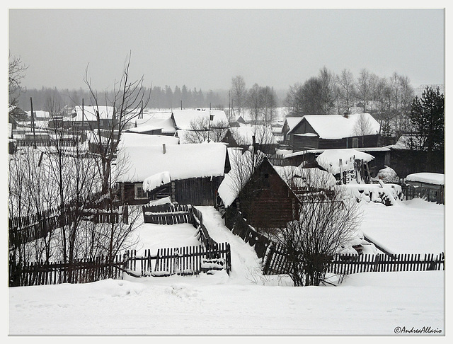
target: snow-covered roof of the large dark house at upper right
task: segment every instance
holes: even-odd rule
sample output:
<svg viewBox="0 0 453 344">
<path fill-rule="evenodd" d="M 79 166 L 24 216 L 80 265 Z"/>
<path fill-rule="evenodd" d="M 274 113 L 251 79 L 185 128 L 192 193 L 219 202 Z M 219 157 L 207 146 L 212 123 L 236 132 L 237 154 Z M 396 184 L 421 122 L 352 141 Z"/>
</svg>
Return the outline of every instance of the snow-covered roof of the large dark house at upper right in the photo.
<svg viewBox="0 0 453 344">
<path fill-rule="evenodd" d="M 319 134 L 321 139 L 342 139 L 343 137 L 360 136 L 355 127 L 360 120 L 367 122 L 367 134 L 379 133 L 379 122 L 369 113 L 355 113 L 348 115 L 306 115 L 304 119 Z"/>
</svg>

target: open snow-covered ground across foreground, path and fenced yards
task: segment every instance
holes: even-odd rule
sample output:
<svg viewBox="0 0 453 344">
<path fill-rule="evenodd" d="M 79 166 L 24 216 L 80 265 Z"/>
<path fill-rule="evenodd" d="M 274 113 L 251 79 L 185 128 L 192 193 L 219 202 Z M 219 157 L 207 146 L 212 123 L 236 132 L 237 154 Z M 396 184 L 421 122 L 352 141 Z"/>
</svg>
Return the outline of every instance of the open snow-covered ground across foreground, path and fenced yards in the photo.
<svg viewBox="0 0 453 344">
<path fill-rule="evenodd" d="M 396 253 L 440 253 L 445 207 L 423 200 L 360 203 L 362 230 Z M 291 287 L 260 275 L 253 248 L 199 207 L 210 235 L 231 244 L 231 275 L 141 277 L 8 288 L 8 333 L 26 335 L 445 335 L 445 272 L 361 273 L 333 287 Z M 428 231 L 428 233 L 426 233 Z M 193 245 L 186 224 L 144 224 L 144 248 Z M 332 281 L 336 282 L 336 281 Z"/>
</svg>

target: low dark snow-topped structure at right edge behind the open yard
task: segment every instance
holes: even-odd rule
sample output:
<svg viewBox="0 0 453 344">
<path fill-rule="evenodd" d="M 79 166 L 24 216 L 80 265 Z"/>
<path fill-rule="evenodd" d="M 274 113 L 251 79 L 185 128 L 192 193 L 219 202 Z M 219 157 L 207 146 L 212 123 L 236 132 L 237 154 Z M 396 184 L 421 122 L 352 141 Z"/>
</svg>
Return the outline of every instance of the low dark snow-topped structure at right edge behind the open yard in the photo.
<svg viewBox="0 0 453 344">
<path fill-rule="evenodd" d="M 420 197 L 429 202 L 445 203 L 445 174 L 412 173 L 406 176 L 405 182 L 404 195 L 406 200 Z"/>
</svg>

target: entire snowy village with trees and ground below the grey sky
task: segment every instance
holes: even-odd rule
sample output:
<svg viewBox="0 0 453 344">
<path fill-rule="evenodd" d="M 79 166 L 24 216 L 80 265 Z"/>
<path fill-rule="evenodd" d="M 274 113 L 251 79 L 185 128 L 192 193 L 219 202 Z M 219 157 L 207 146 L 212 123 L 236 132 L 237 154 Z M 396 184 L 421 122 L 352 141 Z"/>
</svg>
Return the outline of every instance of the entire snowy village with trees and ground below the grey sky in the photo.
<svg viewBox="0 0 453 344">
<path fill-rule="evenodd" d="M 9 336 L 445 336 L 442 86 L 159 103 L 133 62 L 44 97 L 10 55 Z"/>
</svg>

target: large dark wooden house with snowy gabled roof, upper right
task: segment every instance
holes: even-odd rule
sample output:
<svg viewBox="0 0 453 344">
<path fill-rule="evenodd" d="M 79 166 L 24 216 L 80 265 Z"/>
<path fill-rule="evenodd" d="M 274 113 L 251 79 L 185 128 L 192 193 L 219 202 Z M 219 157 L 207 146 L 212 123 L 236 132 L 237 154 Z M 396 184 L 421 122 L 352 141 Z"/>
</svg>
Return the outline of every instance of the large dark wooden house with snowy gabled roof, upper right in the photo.
<svg viewBox="0 0 453 344">
<path fill-rule="evenodd" d="M 369 113 L 305 115 L 285 137 L 293 151 L 377 147 L 379 128 Z"/>
</svg>

